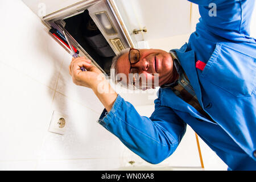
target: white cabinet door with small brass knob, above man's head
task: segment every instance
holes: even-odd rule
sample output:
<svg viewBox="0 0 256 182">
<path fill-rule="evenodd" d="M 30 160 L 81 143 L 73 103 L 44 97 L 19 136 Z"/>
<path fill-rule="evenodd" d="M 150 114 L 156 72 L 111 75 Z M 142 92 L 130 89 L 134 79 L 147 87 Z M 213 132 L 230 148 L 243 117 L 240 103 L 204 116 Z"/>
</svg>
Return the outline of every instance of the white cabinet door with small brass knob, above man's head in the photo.
<svg viewBox="0 0 256 182">
<path fill-rule="evenodd" d="M 109 0 L 115 3 L 134 46 L 191 32 L 192 3 L 175 0 Z M 139 33 L 134 34 L 134 30 Z M 146 31 L 143 31 L 146 30 Z"/>
</svg>

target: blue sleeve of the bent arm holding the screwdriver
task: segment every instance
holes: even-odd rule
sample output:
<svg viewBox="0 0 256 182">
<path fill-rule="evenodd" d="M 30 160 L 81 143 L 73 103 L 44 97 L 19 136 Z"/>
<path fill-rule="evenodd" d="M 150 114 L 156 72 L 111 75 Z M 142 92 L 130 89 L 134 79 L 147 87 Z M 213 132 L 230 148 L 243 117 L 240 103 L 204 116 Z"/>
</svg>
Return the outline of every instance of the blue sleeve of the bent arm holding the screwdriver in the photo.
<svg viewBox="0 0 256 182">
<path fill-rule="evenodd" d="M 103 111 L 99 123 L 142 159 L 156 164 L 168 158 L 183 137 L 186 124 L 169 107 L 155 100 L 150 118 L 138 114 L 133 105 L 118 95 L 112 110 Z"/>
</svg>

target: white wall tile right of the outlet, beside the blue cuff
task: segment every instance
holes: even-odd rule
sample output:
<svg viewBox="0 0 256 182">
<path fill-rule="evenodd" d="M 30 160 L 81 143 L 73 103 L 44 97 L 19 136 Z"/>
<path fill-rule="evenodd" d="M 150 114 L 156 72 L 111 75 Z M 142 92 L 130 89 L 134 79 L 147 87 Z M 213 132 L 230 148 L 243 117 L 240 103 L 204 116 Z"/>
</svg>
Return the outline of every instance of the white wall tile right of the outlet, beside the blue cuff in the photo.
<svg viewBox="0 0 256 182">
<path fill-rule="evenodd" d="M 40 159 L 116 158 L 123 144 L 96 121 L 100 113 L 60 93 L 55 94 L 53 109 L 66 114 L 64 135 L 47 133 Z"/>
</svg>

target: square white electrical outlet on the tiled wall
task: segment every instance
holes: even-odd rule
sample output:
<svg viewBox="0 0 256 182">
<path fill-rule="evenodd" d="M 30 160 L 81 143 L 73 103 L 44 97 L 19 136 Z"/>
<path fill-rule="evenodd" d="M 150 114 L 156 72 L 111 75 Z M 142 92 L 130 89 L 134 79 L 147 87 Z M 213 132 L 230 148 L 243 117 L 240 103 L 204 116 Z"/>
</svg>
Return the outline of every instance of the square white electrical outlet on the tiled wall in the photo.
<svg viewBox="0 0 256 182">
<path fill-rule="evenodd" d="M 67 115 L 56 110 L 53 111 L 51 123 L 49 125 L 49 132 L 64 135 L 67 128 L 67 119 Z"/>
</svg>

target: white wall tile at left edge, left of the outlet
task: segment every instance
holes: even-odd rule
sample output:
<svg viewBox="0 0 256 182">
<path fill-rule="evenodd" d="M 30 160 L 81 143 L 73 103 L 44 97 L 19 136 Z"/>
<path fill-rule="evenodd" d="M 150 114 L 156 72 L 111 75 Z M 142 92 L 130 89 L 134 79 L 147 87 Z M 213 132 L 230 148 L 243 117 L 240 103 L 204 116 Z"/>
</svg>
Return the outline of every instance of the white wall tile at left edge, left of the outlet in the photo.
<svg viewBox="0 0 256 182">
<path fill-rule="evenodd" d="M 54 91 L 0 63 L 0 160 L 36 159 Z"/>
</svg>

